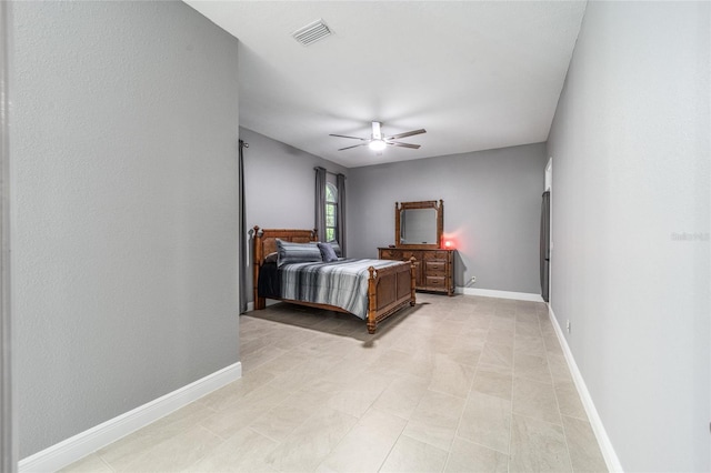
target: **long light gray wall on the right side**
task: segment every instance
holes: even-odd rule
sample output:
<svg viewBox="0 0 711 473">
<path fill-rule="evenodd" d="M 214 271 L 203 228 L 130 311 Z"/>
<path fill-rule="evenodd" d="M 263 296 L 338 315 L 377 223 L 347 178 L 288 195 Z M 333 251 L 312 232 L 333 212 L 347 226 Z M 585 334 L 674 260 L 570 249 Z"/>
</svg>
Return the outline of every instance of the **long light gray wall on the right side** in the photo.
<svg viewBox="0 0 711 473">
<path fill-rule="evenodd" d="M 624 471 L 709 471 L 711 3 L 590 2 L 549 138 L 552 308 Z"/>
</svg>

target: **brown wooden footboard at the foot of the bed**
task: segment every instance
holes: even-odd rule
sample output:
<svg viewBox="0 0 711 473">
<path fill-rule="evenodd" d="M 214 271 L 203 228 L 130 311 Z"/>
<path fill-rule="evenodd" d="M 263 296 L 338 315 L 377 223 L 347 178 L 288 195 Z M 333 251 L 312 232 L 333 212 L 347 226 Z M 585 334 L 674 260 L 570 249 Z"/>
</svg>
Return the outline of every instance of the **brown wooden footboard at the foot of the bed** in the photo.
<svg viewBox="0 0 711 473">
<path fill-rule="evenodd" d="M 368 269 L 368 333 L 405 305 L 414 305 L 414 258 L 409 263 Z"/>
</svg>

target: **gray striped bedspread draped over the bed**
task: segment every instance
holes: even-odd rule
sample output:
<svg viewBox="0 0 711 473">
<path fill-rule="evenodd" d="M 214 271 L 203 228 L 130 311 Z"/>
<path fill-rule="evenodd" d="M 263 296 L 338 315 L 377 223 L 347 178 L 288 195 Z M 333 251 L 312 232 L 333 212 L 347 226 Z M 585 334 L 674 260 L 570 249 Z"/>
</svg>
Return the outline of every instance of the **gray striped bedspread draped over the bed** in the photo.
<svg viewBox="0 0 711 473">
<path fill-rule="evenodd" d="M 361 319 L 368 316 L 368 268 L 402 264 L 387 260 L 340 260 L 332 263 L 292 263 L 280 268 L 281 296 L 336 305 Z"/>
</svg>

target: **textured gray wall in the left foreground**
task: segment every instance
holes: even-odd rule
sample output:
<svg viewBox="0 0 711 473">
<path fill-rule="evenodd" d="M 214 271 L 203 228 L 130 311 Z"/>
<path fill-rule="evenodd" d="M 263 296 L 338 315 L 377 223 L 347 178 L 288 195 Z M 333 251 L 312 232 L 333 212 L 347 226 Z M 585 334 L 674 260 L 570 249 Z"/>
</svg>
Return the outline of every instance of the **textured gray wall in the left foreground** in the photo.
<svg viewBox="0 0 711 473">
<path fill-rule="evenodd" d="M 238 361 L 238 41 L 182 2 L 12 7 L 26 457 Z"/>
</svg>

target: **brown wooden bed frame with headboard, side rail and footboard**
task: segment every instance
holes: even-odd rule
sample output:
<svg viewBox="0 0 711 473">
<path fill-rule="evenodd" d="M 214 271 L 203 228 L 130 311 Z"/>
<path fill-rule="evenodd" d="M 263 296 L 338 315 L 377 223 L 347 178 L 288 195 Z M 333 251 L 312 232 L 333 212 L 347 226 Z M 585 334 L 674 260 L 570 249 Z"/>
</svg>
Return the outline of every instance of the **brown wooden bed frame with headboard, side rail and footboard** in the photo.
<svg viewBox="0 0 711 473">
<path fill-rule="evenodd" d="M 316 230 L 276 229 L 266 230 L 254 227 L 254 310 L 267 306 L 266 298 L 260 298 L 258 293 L 259 270 L 264 263 L 268 254 L 277 251 L 277 239 L 294 243 L 308 243 L 317 241 Z M 412 259 L 414 260 L 414 259 Z M 403 262 L 375 270 L 368 269 L 368 333 L 375 333 L 378 322 L 398 312 L 407 305 L 414 305 L 414 262 Z M 344 309 L 316 304 L 311 302 L 293 301 L 280 299 L 292 304 L 308 305 L 311 308 L 326 309 L 329 311 L 344 312 Z"/>
</svg>

